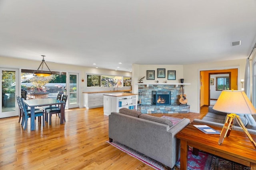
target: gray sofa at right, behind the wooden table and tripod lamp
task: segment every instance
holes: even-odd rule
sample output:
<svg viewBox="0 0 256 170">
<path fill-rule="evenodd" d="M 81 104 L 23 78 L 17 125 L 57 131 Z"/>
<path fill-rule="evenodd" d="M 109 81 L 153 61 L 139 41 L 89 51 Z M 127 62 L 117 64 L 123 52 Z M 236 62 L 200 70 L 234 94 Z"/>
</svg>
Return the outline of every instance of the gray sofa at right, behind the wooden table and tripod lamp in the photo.
<svg viewBox="0 0 256 170">
<path fill-rule="evenodd" d="M 213 125 L 216 127 L 223 127 L 226 120 L 227 113 L 216 111 L 209 106 L 208 113 L 203 117 L 203 119 L 194 119 L 194 122 L 200 123 L 202 125 Z M 256 121 L 252 115 L 238 114 L 242 123 L 247 128 L 250 134 L 256 134 Z M 243 131 L 239 124 L 234 120 L 233 129 L 238 131 Z"/>
</svg>

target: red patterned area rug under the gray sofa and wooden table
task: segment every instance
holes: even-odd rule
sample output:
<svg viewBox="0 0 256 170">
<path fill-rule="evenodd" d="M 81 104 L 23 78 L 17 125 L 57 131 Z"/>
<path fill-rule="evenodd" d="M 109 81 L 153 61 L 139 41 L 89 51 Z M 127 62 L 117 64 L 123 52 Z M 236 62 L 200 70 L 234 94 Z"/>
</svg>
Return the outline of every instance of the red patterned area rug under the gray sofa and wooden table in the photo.
<svg viewBox="0 0 256 170">
<path fill-rule="evenodd" d="M 113 140 L 113 142 L 106 141 L 112 146 L 126 152 L 127 154 L 137 158 L 143 163 L 151 166 L 156 170 L 166 170 L 167 167 L 160 162 L 149 158 L 148 156 L 129 148 L 119 142 Z M 223 158 L 199 152 L 198 156 L 192 154 L 192 150 L 188 150 L 188 170 L 248 170 L 249 167 L 237 164 L 235 162 L 225 160 Z M 174 166 L 174 170 L 180 170 L 180 160 L 178 160 Z"/>
</svg>

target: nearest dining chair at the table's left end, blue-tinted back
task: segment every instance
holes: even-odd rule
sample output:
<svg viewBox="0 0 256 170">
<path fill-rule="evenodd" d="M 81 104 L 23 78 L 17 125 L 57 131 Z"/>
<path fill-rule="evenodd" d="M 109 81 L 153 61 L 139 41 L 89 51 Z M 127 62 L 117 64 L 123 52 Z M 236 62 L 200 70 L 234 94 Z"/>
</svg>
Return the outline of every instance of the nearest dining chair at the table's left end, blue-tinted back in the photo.
<svg viewBox="0 0 256 170">
<path fill-rule="evenodd" d="M 18 100 L 20 102 L 20 107 L 22 110 L 22 127 L 24 130 L 26 130 L 27 126 L 28 126 L 28 118 L 31 118 L 31 113 L 30 111 L 26 110 L 26 106 L 23 102 L 23 100 L 21 99 L 21 97 L 18 97 Z M 35 117 L 42 117 L 42 122 L 43 122 L 43 127 L 44 127 L 44 111 L 41 110 L 35 110 Z M 40 119 L 41 120 L 41 119 Z M 41 123 L 41 121 L 40 121 Z"/>
</svg>

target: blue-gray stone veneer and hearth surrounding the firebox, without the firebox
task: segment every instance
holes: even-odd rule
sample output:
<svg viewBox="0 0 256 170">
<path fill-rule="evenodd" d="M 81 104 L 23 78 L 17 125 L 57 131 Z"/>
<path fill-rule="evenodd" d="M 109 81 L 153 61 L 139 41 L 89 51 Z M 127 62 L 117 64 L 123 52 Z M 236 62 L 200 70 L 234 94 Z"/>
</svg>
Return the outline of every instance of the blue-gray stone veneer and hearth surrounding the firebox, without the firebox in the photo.
<svg viewBox="0 0 256 170">
<path fill-rule="evenodd" d="M 183 86 L 184 88 L 184 86 Z M 152 105 L 152 90 L 170 90 L 171 105 Z M 182 94 L 181 85 L 138 85 L 139 101 L 138 111 L 141 113 L 188 113 L 190 105 L 180 105 Z"/>
</svg>

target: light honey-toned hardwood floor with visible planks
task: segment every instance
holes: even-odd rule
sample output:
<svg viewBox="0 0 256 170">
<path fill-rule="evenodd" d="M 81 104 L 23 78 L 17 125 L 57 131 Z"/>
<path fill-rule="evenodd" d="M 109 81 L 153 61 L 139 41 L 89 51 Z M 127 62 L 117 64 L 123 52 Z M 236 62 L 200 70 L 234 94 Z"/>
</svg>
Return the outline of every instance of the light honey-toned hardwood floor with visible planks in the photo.
<svg viewBox="0 0 256 170">
<path fill-rule="evenodd" d="M 153 114 L 201 119 L 207 113 Z M 150 170 L 150 166 L 106 143 L 108 116 L 103 107 L 96 109 L 70 109 L 65 111 L 66 123 L 52 117 L 52 125 L 37 123 L 36 130 L 26 131 L 18 117 L 0 119 L 0 169 L 128 169 Z"/>
</svg>

